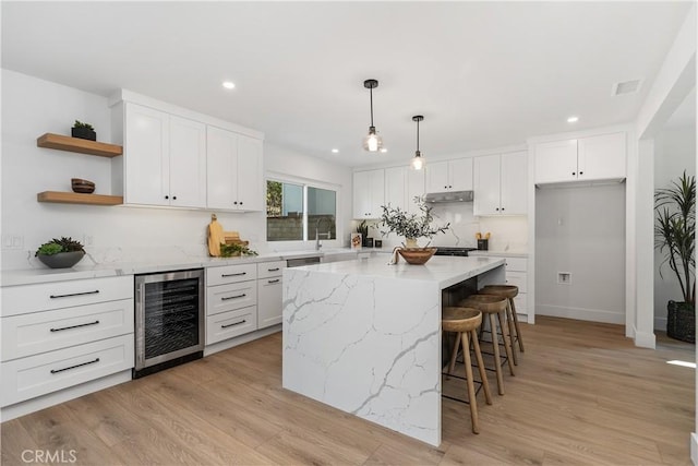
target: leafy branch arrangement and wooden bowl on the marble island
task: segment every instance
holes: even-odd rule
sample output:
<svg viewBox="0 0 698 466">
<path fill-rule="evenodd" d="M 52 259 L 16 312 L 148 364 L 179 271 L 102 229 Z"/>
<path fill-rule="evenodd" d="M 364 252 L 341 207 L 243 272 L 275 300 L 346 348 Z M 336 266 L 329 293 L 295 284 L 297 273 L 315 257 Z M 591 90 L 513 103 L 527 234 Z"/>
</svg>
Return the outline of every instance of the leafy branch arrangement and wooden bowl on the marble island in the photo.
<svg viewBox="0 0 698 466">
<path fill-rule="evenodd" d="M 381 225 L 385 227 L 381 230 L 381 235 L 386 236 L 390 232 L 404 237 L 404 248 L 398 252 L 405 260 L 411 264 L 423 264 L 436 252 L 436 248 L 429 248 L 431 239 L 450 228 L 450 224 L 444 226 L 433 226 L 434 215 L 433 207 L 419 196 L 414 198 L 414 202 L 419 206 L 421 215 L 410 214 L 400 207 L 392 207 L 390 205 L 382 205 L 383 214 L 381 216 Z M 417 240 L 419 238 L 429 238 L 430 241 L 424 247 L 419 247 Z"/>
</svg>

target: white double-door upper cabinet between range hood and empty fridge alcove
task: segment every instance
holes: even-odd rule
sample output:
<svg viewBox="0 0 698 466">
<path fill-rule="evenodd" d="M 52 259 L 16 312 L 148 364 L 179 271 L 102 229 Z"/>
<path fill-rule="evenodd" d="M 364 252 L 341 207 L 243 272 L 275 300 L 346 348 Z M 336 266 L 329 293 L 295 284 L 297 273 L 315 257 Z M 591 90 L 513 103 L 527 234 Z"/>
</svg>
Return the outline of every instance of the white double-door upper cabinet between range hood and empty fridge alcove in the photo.
<svg viewBox="0 0 698 466">
<path fill-rule="evenodd" d="M 525 215 L 527 152 L 474 158 L 473 214 Z"/>
</svg>

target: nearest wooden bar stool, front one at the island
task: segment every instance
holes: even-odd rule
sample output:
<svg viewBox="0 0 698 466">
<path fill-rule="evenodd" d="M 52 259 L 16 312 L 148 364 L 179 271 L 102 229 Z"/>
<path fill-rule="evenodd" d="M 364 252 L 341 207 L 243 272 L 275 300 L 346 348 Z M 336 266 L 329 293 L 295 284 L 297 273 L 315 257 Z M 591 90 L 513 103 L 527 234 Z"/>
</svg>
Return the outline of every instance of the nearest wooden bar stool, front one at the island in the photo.
<svg viewBox="0 0 698 466">
<path fill-rule="evenodd" d="M 482 379 L 482 389 L 484 390 L 484 398 L 488 405 L 492 404 L 492 395 L 490 394 L 490 384 L 488 383 L 488 377 L 484 371 L 484 362 L 482 361 L 482 354 L 480 353 L 480 343 L 478 342 L 478 327 L 482 323 L 482 312 L 477 309 L 470 308 L 453 308 L 447 307 L 442 309 L 441 327 L 444 332 L 457 333 L 456 342 L 454 343 L 454 349 L 450 355 L 450 362 L 448 363 L 447 374 L 452 375 L 456 367 L 456 358 L 458 357 L 458 347 L 462 342 L 462 355 L 464 363 L 466 366 L 466 381 L 468 384 L 468 404 L 470 405 L 470 419 L 472 421 L 472 432 L 480 433 L 480 427 L 478 422 L 478 401 L 476 399 L 476 387 L 472 380 L 472 361 L 470 359 L 470 343 L 472 339 L 472 347 L 478 361 L 478 370 L 480 371 L 480 378 Z M 470 338 L 469 338 L 470 336 Z M 457 377 L 457 375 L 456 375 Z M 460 379 L 460 378 L 459 378 Z M 446 395 L 444 395 L 446 396 Z M 452 399 L 460 401 L 458 398 Z"/>
</svg>

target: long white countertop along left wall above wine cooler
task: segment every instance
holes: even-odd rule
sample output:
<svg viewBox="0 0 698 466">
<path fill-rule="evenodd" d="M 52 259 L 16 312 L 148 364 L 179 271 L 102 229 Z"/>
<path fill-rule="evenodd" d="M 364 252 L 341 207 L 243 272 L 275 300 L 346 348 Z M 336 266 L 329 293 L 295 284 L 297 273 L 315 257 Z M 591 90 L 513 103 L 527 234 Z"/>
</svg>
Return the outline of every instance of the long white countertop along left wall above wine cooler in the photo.
<svg viewBox="0 0 698 466">
<path fill-rule="evenodd" d="M 249 255 L 242 258 L 177 258 L 158 259 L 143 262 L 109 262 L 95 264 L 89 256 L 71 268 L 48 268 L 39 265 L 36 268 L 21 268 L 2 271 L 0 285 L 20 286 L 38 283 L 63 282 L 85 278 L 100 278 L 121 275 L 149 274 L 169 271 L 182 271 L 190 268 L 206 268 L 224 265 L 263 263 L 272 261 L 286 261 L 299 258 L 322 258 L 324 255 L 351 256 L 359 252 L 371 252 L 372 249 L 351 250 L 350 248 L 336 248 L 327 250 L 300 250 L 300 251 L 276 251 L 261 253 L 260 255 Z M 380 251 L 380 250 L 376 250 Z M 92 262 L 92 263 L 91 263 Z"/>
</svg>

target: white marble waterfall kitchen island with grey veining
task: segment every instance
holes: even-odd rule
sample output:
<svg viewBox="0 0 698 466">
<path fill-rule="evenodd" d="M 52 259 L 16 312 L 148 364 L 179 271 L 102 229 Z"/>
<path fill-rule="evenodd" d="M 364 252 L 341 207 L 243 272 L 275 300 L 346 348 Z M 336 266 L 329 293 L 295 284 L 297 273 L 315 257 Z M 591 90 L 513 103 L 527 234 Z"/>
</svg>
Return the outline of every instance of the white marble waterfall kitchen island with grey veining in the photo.
<svg viewBox="0 0 698 466">
<path fill-rule="evenodd" d="M 438 446 L 442 291 L 504 283 L 504 260 L 387 260 L 284 271 L 282 385 Z"/>
</svg>

